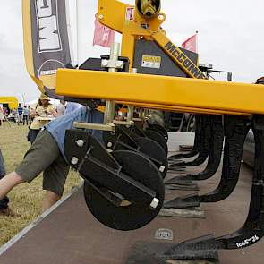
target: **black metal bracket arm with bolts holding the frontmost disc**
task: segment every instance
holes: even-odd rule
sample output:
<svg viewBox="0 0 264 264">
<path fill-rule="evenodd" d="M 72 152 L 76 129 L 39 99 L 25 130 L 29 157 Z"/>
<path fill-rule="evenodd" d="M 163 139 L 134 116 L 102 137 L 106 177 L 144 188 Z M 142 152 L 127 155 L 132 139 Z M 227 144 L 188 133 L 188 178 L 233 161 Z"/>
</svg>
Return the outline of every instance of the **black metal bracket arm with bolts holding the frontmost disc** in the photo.
<svg viewBox="0 0 264 264">
<path fill-rule="evenodd" d="M 89 182 L 106 186 L 113 192 L 125 192 L 125 196 L 133 201 L 142 202 L 147 199 L 150 204 L 155 198 L 155 192 L 124 175 L 121 172 L 122 166 L 88 132 L 67 130 L 64 151 L 71 166 Z"/>
</svg>

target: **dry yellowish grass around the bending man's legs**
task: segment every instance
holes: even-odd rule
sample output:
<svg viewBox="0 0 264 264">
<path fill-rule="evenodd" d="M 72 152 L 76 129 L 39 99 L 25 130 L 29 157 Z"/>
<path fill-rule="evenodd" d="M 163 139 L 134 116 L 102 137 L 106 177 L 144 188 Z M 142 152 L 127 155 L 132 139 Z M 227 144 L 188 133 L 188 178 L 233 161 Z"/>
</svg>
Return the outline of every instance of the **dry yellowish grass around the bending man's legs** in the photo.
<svg viewBox="0 0 264 264">
<path fill-rule="evenodd" d="M 4 155 L 6 171 L 12 172 L 21 162 L 25 152 L 30 148 L 26 139 L 28 127 L 7 123 L 0 126 L 0 148 Z M 64 194 L 73 186 L 81 183 L 77 173 L 71 171 L 65 185 Z M 23 183 L 8 194 L 10 207 L 21 217 L 0 217 L 0 246 L 10 240 L 22 228 L 28 226 L 32 220 L 41 214 L 41 202 L 44 196 L 42 190 L 42 176 L 38 176 L 32 183 Z"/>
</svg>

